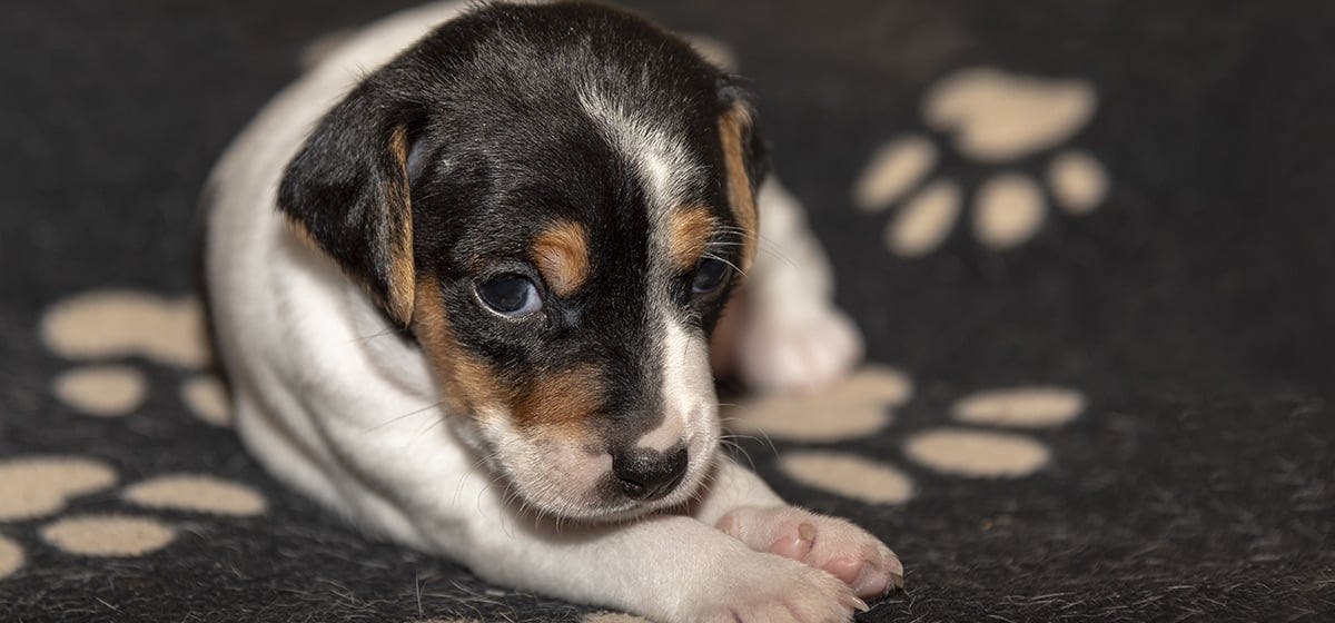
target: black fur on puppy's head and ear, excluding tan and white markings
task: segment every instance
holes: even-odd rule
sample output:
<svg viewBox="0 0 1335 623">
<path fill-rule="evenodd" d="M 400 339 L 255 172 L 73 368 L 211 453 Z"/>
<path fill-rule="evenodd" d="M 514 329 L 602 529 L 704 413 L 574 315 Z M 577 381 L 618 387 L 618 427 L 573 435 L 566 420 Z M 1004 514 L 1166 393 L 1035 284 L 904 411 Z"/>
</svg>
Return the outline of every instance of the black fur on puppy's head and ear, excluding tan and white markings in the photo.
<svg viewBox="0 0 1335 623">
<path fill-rule="evenodd" d="M 650 191 L 581 104 L 590 91 L 613 93 L 626 115 L 684 147 L 704 175 L 681 199 L 737 224 L 717 128 L 745 97 L 738 80 L 639 17 L 578 3 L 481 7 L 370 75 L 292 161 L 280 208 L 383 297 L 380 241 L 395 224 L 375 185 L 395 175 L 384 145 L 406 128 L 425 155 L 411 183 L 414 264 L 439 281 L 459 347 L 521 394 L 571 367 L 605 371 L 605 412 L 591 422 L 609 443 L 625 443 L 662 418 L 663 331 L 650 296 L 670 299 L 678 318 L 709 334 L 726 291 L 694 299 L 692 275 L 680 269 L 669 283 L 649 283 L 662 273 L 651 264 L 669 261 L 650 241 Z M 758 185 L 764 145 L 746 132 L 748 175 Z M 589 239 L 587 281 L 569 297 L 542 287 L 529 259 L 533 239 L 557 220 L 582 224 Z M 734 248 L 716 253 L 736 263 Z M 542 312 L 503 319 L 482 308 L 475 284 L 506 272 L 539 284 Z"/>
</svg>

